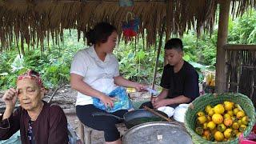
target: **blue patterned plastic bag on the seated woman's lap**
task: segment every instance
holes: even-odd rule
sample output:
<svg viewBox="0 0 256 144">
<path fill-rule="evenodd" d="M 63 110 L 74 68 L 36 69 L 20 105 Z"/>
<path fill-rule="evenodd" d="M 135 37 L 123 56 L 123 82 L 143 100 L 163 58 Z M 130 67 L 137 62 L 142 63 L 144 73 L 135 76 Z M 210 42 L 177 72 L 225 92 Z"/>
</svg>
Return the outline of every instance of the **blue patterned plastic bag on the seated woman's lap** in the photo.
<svg viewBox="0 0 256 144">
<path fill-rule="evenodd" d="M 110 106 L 106 107 L 98 98 L 93 98 L 94 106 L 98 109 L 106 110 L 109 113 L 113 113 L 117 110 L 130 110 L 134 107 L 132 106 L 130 98 L 127 96 L 126 89 L 122 86 L 118 86 L 118 88 L 114 89 L 107 95 L 111 98 L 115 98 L 114 106 L 112 108 Z"/>
</svg>

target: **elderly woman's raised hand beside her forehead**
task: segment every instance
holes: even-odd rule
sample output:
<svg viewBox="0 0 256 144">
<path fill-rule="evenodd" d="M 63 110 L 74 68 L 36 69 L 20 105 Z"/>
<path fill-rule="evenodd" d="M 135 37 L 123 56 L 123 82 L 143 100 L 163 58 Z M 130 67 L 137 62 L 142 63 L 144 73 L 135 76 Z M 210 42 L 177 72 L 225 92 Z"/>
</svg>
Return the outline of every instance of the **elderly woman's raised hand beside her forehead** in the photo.
<svg viewBox="0 0 256 144">
<path fill-rule="evenodd" d="M 6 90 L 6 93 L 3 95 L 2 100 L 6 103 L 6 106 L 14 107 L 17 101 L 18 91 L 14 88 Z"/>
</svg>

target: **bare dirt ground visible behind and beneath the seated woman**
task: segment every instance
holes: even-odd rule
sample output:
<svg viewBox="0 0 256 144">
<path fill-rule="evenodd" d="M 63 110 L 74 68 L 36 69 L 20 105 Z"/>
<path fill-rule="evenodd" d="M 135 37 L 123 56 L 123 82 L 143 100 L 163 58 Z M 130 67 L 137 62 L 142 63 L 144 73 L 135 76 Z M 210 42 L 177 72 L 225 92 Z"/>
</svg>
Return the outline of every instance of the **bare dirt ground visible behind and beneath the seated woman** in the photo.
<svg viewBox="0 0 256 144">
<path fill-rule="evenodd" d="M 0 91 L 0 113 L 3 113 L 4 107 L 5 107 L 4 102 L 2 102 L 3 94 L 4 94 L 4 91 Z M 54 94 L 54 97 L 51 99 L 50 102 L 62 107 L 64 112 L 66 112 L 66 118 L 68 123 L 75 130 L 76 134 L 78 134 L 78 137 L 80 137 L 78 133 L 79 120 L 76 114 L 74 113 L 77 92 L 75 90 L 72 90 L 70 88 L 70 85 L 65 85 L 58 90 L 49 90 L 45 95 L 45 98 L 43 98 L 43 100 L 47 102 L 53 94 Z M 148 92 L 141 92 L 141 93 L 134 92 L 134 93 L 130 93 L 130 98 L 133 101 L 140 101 L 140 100 L 145 100 L 150 98 L 150 94 Z M 119 125 L 118 130 L 120 131 L 121 134 L 125 134 L 126 127 L 124 125 Z M 92 138 L 91 141 L 93 144 L 101 144 L 105 142 L 102 131 L 93 130 L 91 138 Z"/>
</svg>

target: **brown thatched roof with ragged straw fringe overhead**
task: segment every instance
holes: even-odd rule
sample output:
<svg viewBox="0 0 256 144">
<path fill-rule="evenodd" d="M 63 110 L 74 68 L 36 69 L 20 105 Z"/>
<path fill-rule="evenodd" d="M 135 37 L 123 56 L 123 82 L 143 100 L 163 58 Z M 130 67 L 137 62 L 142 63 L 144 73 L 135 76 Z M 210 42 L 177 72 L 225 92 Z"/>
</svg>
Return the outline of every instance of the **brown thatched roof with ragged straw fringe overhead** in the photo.
<svg viewBox="0 0 256 144">
<path fill-rule="evenodd" d="M 222 2 L 223 0 L 219 0 Z M 140 18 L 139 33 L 146 31 L 148 44 L 154 44 L 157 34 L 182 35 L 194 28 L 211 32 L 217 10 L 217 0 L 135 0 L 132 7 L 118 6 L 118 0 L 0 0 L 1 46 L 11 42 L 41 46 L 43 39 L 62 39 L 63 29 L 78 29 L 78 35 L 97 22 L 111 22 L 122 33 L 122 22 L 128 11 Z M 233 14 L 242 14 L 248 6 L 256 7 L 256 0 L 232 2 Z M 169 27 L 168 27 L 169 26 Z M 166 31 L 167 30 L 167 31 Z M 18 46 L 18 45 L 17 45 Z"/>
</svg>

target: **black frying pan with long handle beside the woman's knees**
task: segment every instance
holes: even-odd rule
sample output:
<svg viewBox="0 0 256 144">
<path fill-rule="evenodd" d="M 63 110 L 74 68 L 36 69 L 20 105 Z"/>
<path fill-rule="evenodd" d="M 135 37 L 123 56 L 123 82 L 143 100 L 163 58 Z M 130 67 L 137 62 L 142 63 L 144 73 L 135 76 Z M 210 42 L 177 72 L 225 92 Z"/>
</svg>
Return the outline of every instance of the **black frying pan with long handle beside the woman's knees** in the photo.
<svg viewBox="0 0 256 144">
<path fill-rule="evenodd" d="M 167 114 L 163 113 L 162 111 L 155 110 L 159 114 L 162 114 L 163 116 L 166 116 L 168 118 Z M 158 117 L 155 114 L 152 114 L 148 110 L 144 109 L 138 109 L 138 110 L 132 110 L 128 111 L 126 114 L 123 115 L 123 118 L 120 118 L 114 114 L 107 114 L 107 113 L 94 113 L 92 114 L 93 117 L 97 116 L 110 116 L 113 118 L 117 118 L 120 122 L 124 122 L 126 127 L 130 129 L 133 126 L 137 126 L 142 123 L 146 122 L 166 122 L 165 119 Z"/>
</svg>

